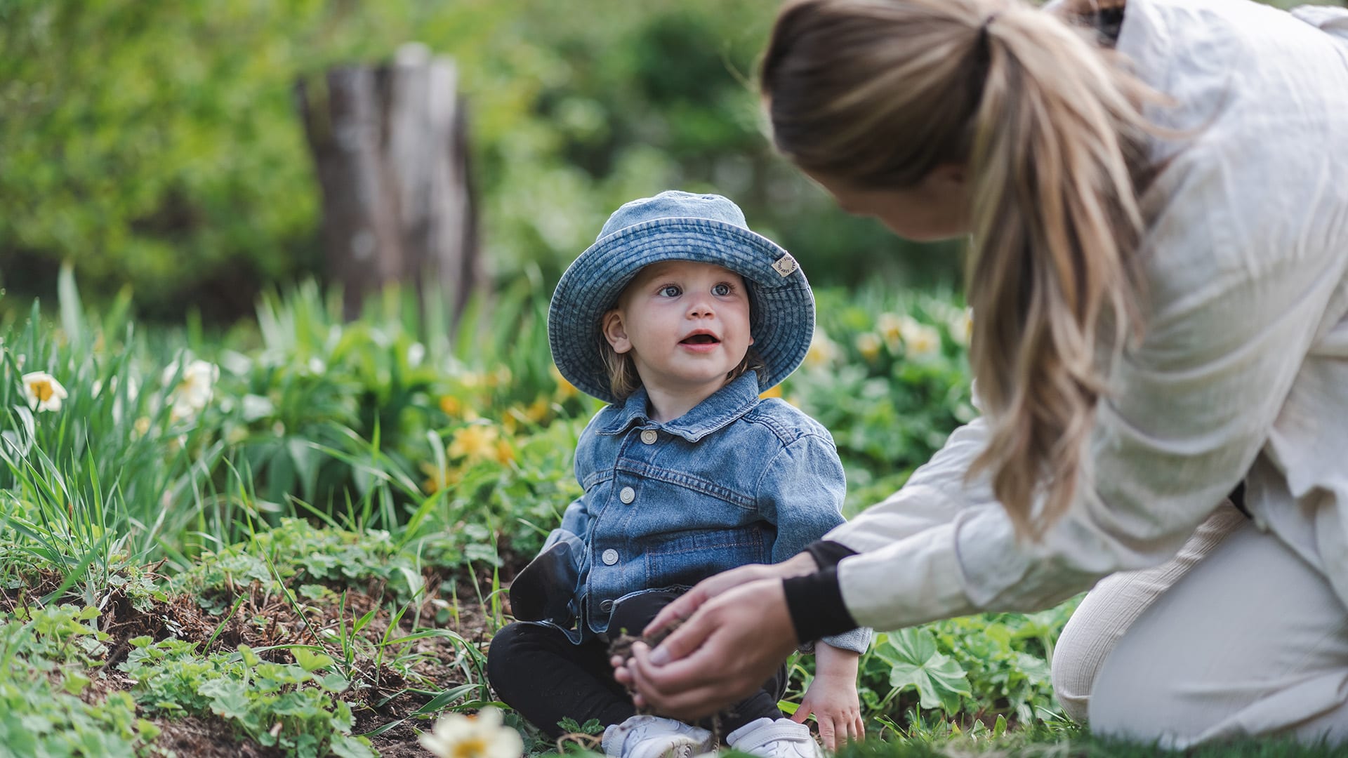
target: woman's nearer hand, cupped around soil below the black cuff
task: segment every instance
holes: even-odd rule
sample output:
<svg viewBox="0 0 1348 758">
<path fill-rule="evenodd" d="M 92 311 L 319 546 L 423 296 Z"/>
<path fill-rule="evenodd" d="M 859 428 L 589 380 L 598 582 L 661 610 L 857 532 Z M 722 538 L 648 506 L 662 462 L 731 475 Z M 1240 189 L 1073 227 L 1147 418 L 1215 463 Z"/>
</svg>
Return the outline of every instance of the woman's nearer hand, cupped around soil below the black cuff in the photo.
<svg viewBox="0 0 1348 758">
<path fill-rule="evenodd" d="M 795 647 L 782 580 L 756 579 L 705 600 L 654 650 L 638 642 L 615 657 L 613 676 L 638 707 L 692 720 L 748 697 Z"/>
</svg>

